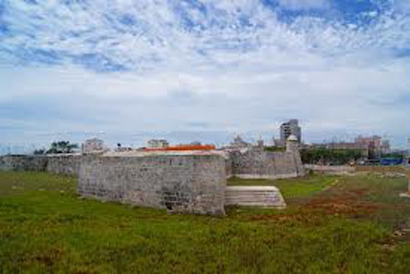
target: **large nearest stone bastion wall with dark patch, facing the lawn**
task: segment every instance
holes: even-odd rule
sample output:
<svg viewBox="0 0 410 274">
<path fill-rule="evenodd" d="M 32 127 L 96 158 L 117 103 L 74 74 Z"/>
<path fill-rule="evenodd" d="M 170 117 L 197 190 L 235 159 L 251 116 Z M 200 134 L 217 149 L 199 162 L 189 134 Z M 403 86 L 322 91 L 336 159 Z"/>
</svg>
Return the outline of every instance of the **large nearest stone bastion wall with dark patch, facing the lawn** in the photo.
<svg viewBox="0 0 410 274">
<path fill-rule="evenodd" d="M 79 169 L 82 196 L 172 212 L 224 214 L 225 188 L 218 155 L 85 157 Z"/>
</svg>

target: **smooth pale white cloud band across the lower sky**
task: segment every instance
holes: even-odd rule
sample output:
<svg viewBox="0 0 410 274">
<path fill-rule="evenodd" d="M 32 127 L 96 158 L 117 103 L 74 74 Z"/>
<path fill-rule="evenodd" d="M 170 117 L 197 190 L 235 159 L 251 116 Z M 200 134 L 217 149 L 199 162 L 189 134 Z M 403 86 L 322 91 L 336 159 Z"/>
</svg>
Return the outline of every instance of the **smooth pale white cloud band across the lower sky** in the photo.
<svg viewBox="0 0 410 274">
<path fill-rule="evenodd" d="M 198 130 L 190 123 L 199 121 L 206 125 L 202 130 L 270 129 L 274 133 L 275 123 L 299 117 L 309 126 L 305 128 L 308 139 L 321 132 L 398 134 L 410 122 L 404 115 L 408 107 L 395 104 L 408 93 L 408 63 L 406 59 L 383 67 L 323 69 L 319 62 L 312 71 L 255 72 L 250 66 L 234 72 L 166 71 L 149 76 L 25 68 L 7 70 L 8 75 L 0 71 L 5 90 L 13 91 L 2 94 L 0 104 L 12 100 L 19 105 L 39 96 L 43 101 L 33 103 L 39 113 L 56 104 L 52 110 L 59 112 L 40 127 L 45 131 L 92 128 L 130 136 L 139 130 Z M 27 123 L 27 131 L 38 131 L 36 121 L 36 117 L 15 116 L 3 124 Z"/>
</svg>

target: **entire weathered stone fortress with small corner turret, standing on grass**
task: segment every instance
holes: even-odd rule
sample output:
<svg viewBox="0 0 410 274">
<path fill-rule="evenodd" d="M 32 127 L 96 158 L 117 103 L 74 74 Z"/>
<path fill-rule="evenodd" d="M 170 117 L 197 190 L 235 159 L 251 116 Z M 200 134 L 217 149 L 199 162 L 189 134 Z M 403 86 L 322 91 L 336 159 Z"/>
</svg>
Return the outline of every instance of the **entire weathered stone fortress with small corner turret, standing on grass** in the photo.
<svg viewBox="0 0 410 274">
<path fill-rule="evenodd" d="M 0 170 L 36 170 L 75 175 L 78 194 L 170 212 L 223 215 L 241 191 L 227 187 L 227 178 L 294 178 L 304 175 L 297 137 L 285 151 L 265 151 L 263 144 L 234 142 L 210 150 L 107 151 L 100 140 L 86 141 L 82 153 L 0 157 Z M 232 188 L 232 189 L 230 189 Z M 248 189 L 246 191 L 251 191 Z M 278 189 L 257 189 L 264 205 L 284 208 Z M 242 192 L 249 197 L 249 192 Z M 227 200 L 226 197 L 228 197 Z M 247 201 L 258 204 L 257 201 Z"/>
</svg>

